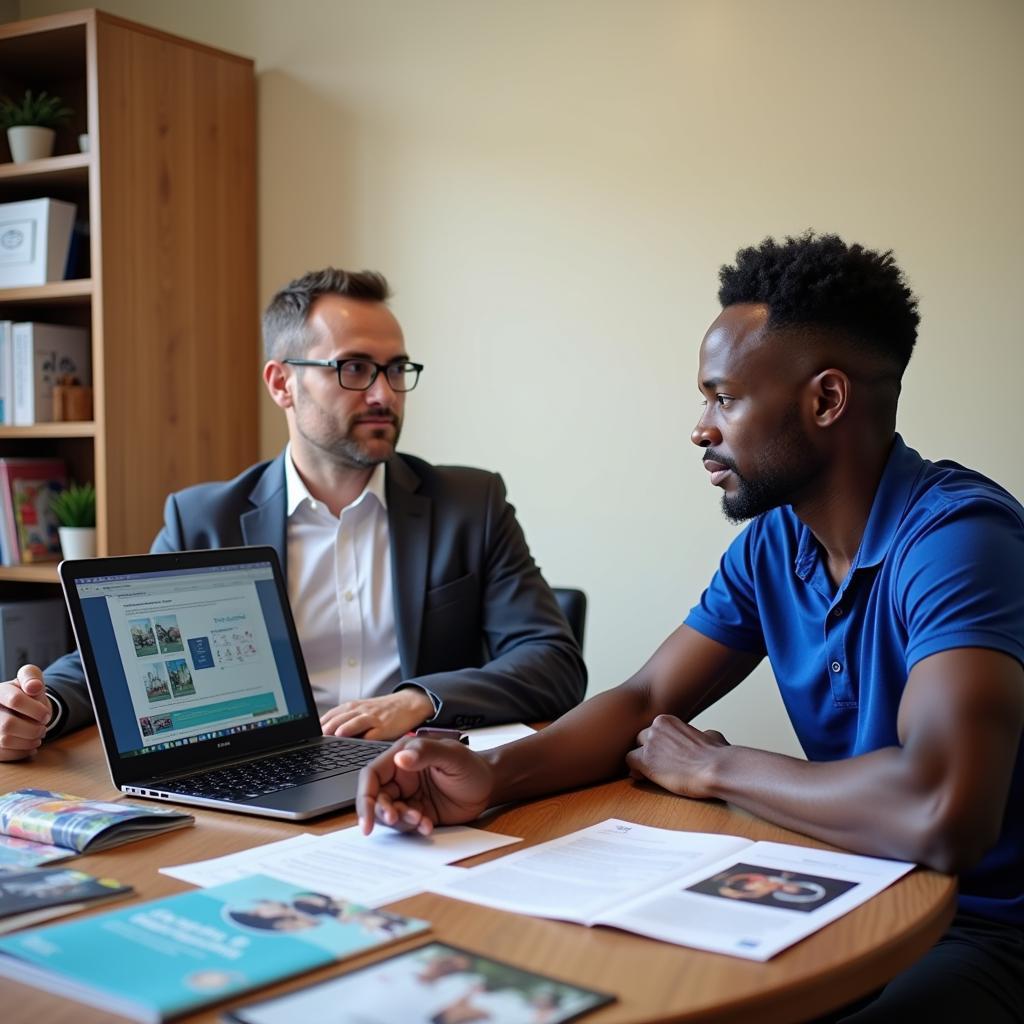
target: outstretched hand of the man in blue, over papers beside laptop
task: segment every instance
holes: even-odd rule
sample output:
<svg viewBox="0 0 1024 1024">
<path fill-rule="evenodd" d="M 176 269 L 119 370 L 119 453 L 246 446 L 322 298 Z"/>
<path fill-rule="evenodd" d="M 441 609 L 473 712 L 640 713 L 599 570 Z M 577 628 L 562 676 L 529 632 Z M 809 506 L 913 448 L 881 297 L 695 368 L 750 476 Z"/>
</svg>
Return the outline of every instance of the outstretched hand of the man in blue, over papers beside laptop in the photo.
<svg viewBox="0 0 1024 1024">
<path fill-rule="evenodd" d="M 408 737 L 359 772 L 355 810 L 365 836 L 374 823 L 429 836 L 462 824 L 490 805 L 494 775 L 479 754 L 457 739 Z"/>
</svg>

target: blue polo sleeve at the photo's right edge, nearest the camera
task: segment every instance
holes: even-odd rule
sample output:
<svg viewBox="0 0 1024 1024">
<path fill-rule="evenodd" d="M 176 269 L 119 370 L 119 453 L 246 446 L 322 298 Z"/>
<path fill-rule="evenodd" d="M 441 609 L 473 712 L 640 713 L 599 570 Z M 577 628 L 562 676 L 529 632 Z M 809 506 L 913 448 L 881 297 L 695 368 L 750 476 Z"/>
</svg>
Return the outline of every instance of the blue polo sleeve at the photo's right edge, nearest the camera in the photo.
<svg viewBox="0 0 1024 1024">
<path fill-rule="evenodd" d="M 906 668 L 954 647 L 1024 663 L 1024 523 L 1009 505 L 961 503 L 923 526 L 897 570 Z"/>
</svg>

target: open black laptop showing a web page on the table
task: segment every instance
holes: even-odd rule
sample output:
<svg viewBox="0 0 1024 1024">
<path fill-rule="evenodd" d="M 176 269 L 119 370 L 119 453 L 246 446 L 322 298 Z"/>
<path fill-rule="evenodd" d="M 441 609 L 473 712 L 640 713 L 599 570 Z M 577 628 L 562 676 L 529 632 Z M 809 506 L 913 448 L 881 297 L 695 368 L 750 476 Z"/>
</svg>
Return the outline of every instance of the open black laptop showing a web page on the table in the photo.
<svg viewBox="0 0 1024 1024">
<path fill-rule="evenodd" d="M 302 820 L 350 807 L 390 744 L 324 736 L 269 547 L 58 567 L 122 793 Z"/>
</svg>

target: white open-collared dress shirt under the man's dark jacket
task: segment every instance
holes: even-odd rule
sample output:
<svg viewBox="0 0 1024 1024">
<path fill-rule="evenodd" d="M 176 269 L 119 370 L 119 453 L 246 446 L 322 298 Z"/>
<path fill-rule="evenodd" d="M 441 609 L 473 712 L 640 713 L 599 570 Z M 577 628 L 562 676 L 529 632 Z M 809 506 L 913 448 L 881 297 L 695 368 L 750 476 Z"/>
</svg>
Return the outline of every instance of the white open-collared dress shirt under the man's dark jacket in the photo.
<svg viewBox="0 0 1024 1024">
<path fill-rule="evenodd" d="M 285 453 L 288 597 L 323 714 L 344 700 L 389 693 L 401 679 L 394 629 L 384 466 L 332 515 Z"/>
</svg>

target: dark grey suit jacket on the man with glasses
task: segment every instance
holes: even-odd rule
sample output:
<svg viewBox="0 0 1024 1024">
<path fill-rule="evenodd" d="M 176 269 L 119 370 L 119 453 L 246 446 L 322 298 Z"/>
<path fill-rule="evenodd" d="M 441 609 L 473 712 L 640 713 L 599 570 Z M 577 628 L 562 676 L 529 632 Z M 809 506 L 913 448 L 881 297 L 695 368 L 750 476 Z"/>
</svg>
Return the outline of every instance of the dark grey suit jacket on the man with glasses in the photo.
<svg viewBox="0 0 1024 1024">
<path fill-rule="evenodd" d="M 287 575 L 284 459 L 171 495 L 152 550 L 266 544 Z M 583 657 L 502 478 L 396 456 L 385 486 L 402 684 L 441 698 L 436 724 L 548 720 L 579 703 L 587 687 Z M 68 712 L 55 732 L 92 720 L 77 651 L 44 676 Z"/>
</svg>

